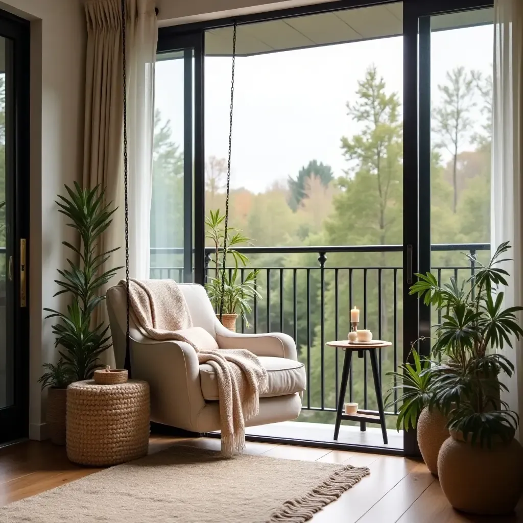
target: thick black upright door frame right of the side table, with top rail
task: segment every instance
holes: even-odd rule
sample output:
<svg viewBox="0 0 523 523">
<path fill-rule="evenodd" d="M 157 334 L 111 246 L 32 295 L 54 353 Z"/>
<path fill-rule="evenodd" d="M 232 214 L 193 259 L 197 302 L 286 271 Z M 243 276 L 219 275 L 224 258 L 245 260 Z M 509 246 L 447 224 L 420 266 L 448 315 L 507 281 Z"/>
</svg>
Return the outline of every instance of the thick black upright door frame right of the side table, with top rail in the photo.
<svg viewBox="0 0 523 523">
<path fill-rule="evenodd" d="M 430 18 L 432 16 L 493 7 L 493 0 L 404 0 L 403 3 L 403 361 L 410 356 L 406 340 L 430 337 L 430 307 L 410 295 L 414 272 L 430 264 Z M 408 188 L 408 190 L 407 190 Z M 419 344 L 428 356 L 430 342 Z M 403 451 L 419 456 L 416 432 L 404 432 Z"/>
</svg>

